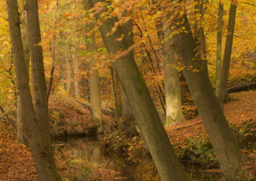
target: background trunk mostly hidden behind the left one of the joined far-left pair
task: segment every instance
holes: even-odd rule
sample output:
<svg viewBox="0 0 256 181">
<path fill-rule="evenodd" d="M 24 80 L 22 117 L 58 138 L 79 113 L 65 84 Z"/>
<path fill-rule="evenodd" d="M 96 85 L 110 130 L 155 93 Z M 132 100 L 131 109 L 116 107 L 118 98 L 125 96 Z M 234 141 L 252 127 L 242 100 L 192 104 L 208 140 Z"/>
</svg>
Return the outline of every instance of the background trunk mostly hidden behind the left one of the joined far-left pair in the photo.
<svg viewBox="0 0 256 181">
<path fill-rule="evenodd" d="M 26 70 L 27 70 L 27 77 L 29 82 L 29 58 L 30 58 L 30 50 L 29 50 L 29 37 L 28 37 L 28 25 L 26 21 L 26 11 L 23 11 L 23 17 L 24 17 L 24 24 L 21 29 L 22 33 L 22 43 L 23 43 L 23 50 L 24 50 L 24 59 L 26 62 Z M 26 126 L 24 124 L 25 116 L 22 112 L 22 106 L 20 103 L 20 96 L 17 95 L 17 140 L 20 143 L 23 143 L 27 147 L 29 147 L 29 140 L 26 138 Z"/>
</svg>

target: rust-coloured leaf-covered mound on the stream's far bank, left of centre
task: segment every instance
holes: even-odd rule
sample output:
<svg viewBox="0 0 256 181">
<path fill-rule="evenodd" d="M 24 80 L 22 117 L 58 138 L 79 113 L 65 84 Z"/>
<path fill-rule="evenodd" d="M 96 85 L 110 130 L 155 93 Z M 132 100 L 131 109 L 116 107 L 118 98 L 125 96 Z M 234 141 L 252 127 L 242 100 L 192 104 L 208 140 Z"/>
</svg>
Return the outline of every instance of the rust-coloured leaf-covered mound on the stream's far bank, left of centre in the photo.
<svg viewBox="0 0 256 181">
<path fill-rule="evenodd" d="M 106 125 L 114 122 L 102 115 Z M 71 98 L 63 91 L 54 92 L 49 99 L 49 119 L 54 137 L 96 134 L 99 122 L 93 119 L 88 103 Z"/>
</svg>

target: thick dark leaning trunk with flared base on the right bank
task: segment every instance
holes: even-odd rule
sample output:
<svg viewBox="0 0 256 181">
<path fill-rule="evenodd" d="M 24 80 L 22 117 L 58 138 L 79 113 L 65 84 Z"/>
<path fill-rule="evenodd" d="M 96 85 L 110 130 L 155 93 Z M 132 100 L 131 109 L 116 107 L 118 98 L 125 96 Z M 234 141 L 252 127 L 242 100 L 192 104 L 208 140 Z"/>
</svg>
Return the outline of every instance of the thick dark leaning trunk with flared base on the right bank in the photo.
<svg viewBox="0 0 256 181">
<path fill-rule="evenodd" d="M 188 32 L 174 34 L 172 40 L 177 54 L 181 57 L 180 61 L 184 65 L 183 71 L 189 90 L 204 122 L 205 130 L 209 134 L 225 178 L 236 180 L 236 173 L 240 170 L 240 163 L 244 156 L 237 145 L 236 136 L 228 126 L 220 101 L 207 78 L 207 71 L 200 55 L 195 52 L 196 43 L 186 13 L 182 18 L 177 18 L 175 22 L 179 24 L 175 31 L 185 27 Z"/>
</svg>

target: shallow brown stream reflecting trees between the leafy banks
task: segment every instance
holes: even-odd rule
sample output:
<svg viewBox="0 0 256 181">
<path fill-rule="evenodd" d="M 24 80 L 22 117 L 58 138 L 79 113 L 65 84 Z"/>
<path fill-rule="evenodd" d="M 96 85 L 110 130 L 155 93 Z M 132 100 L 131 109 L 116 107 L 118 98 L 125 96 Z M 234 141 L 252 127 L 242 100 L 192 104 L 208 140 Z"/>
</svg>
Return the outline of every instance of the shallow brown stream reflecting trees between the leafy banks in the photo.
<svg viewBox="0 0 256 181">
<path fill-rule="evenodd" d="M 64 152 L 70 152 L 72 156 L 79 157 L 88 165 L 97 165 L 100 168 L 115 170 L 119 172 L 114 180 L 134 181 L 134 180 L 160 180 L 156 168 L 150 157 L 144 158 L 140 163 L 131 163 L 122 157 L 108 156 L 102 153 L 100 140 L 103 138 L 65 138 L 55 140 L 56 148 L 61 148 Z M 125 164 L 124 164 L 125 163 Z M 201 171 L 198 166 L 183 163 L 184 168 L 191 180 L 220 180 L 221 174 L 211 171 Z M 83 178 L 76 180 L 83 180 Z M 84 180 L 90 180 L 90 178 Z M 113 179 L 112 179 L 113 180 Z"/>
</svg>

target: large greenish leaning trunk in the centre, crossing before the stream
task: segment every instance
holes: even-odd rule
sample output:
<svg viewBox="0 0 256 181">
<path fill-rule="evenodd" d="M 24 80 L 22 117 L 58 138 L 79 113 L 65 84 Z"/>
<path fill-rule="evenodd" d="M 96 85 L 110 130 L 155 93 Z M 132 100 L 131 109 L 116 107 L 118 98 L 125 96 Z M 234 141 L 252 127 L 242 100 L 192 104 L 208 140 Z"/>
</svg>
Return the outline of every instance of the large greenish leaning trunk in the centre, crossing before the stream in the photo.
<svg viewBox="0 0 256 181">
<path fill-rule="evenodd" d="M 90 0 L 92 6 L 99 2 L 102 1 Z M 109 6 L 108 3 L 105 5 Z M 104 11 L 107 11 L 106 8 L 95 14 L 97 20 L 100 20 L 100 15 Z M 123 34 L 120 25 L 116 27 L 115 33 L 106 36 L 106 34 L 111 33 L 111 29 L 117 22 L 117 17 L 109 17 L 99 27 L 100 34 L 109 54 L 116 54 L 120 49 L 127 50 L 128 48 L 127 41 L 116 40 L 116 38 L 122 37 Z M 164 181 L 188 180 L 168 139 L 156 107 L 148 92 L 147 85 L 136 66 L 132 54 L 128 53 L 122 55 L 122 57 L 118 57 L 113 62 L 113 66 L 120 78 L 122 88 L 125 96 L 129 100 L 132 112 L 136 120 L 138 120 L 138 127 L 156 164 L 161 179 Z"/>
</svg>

